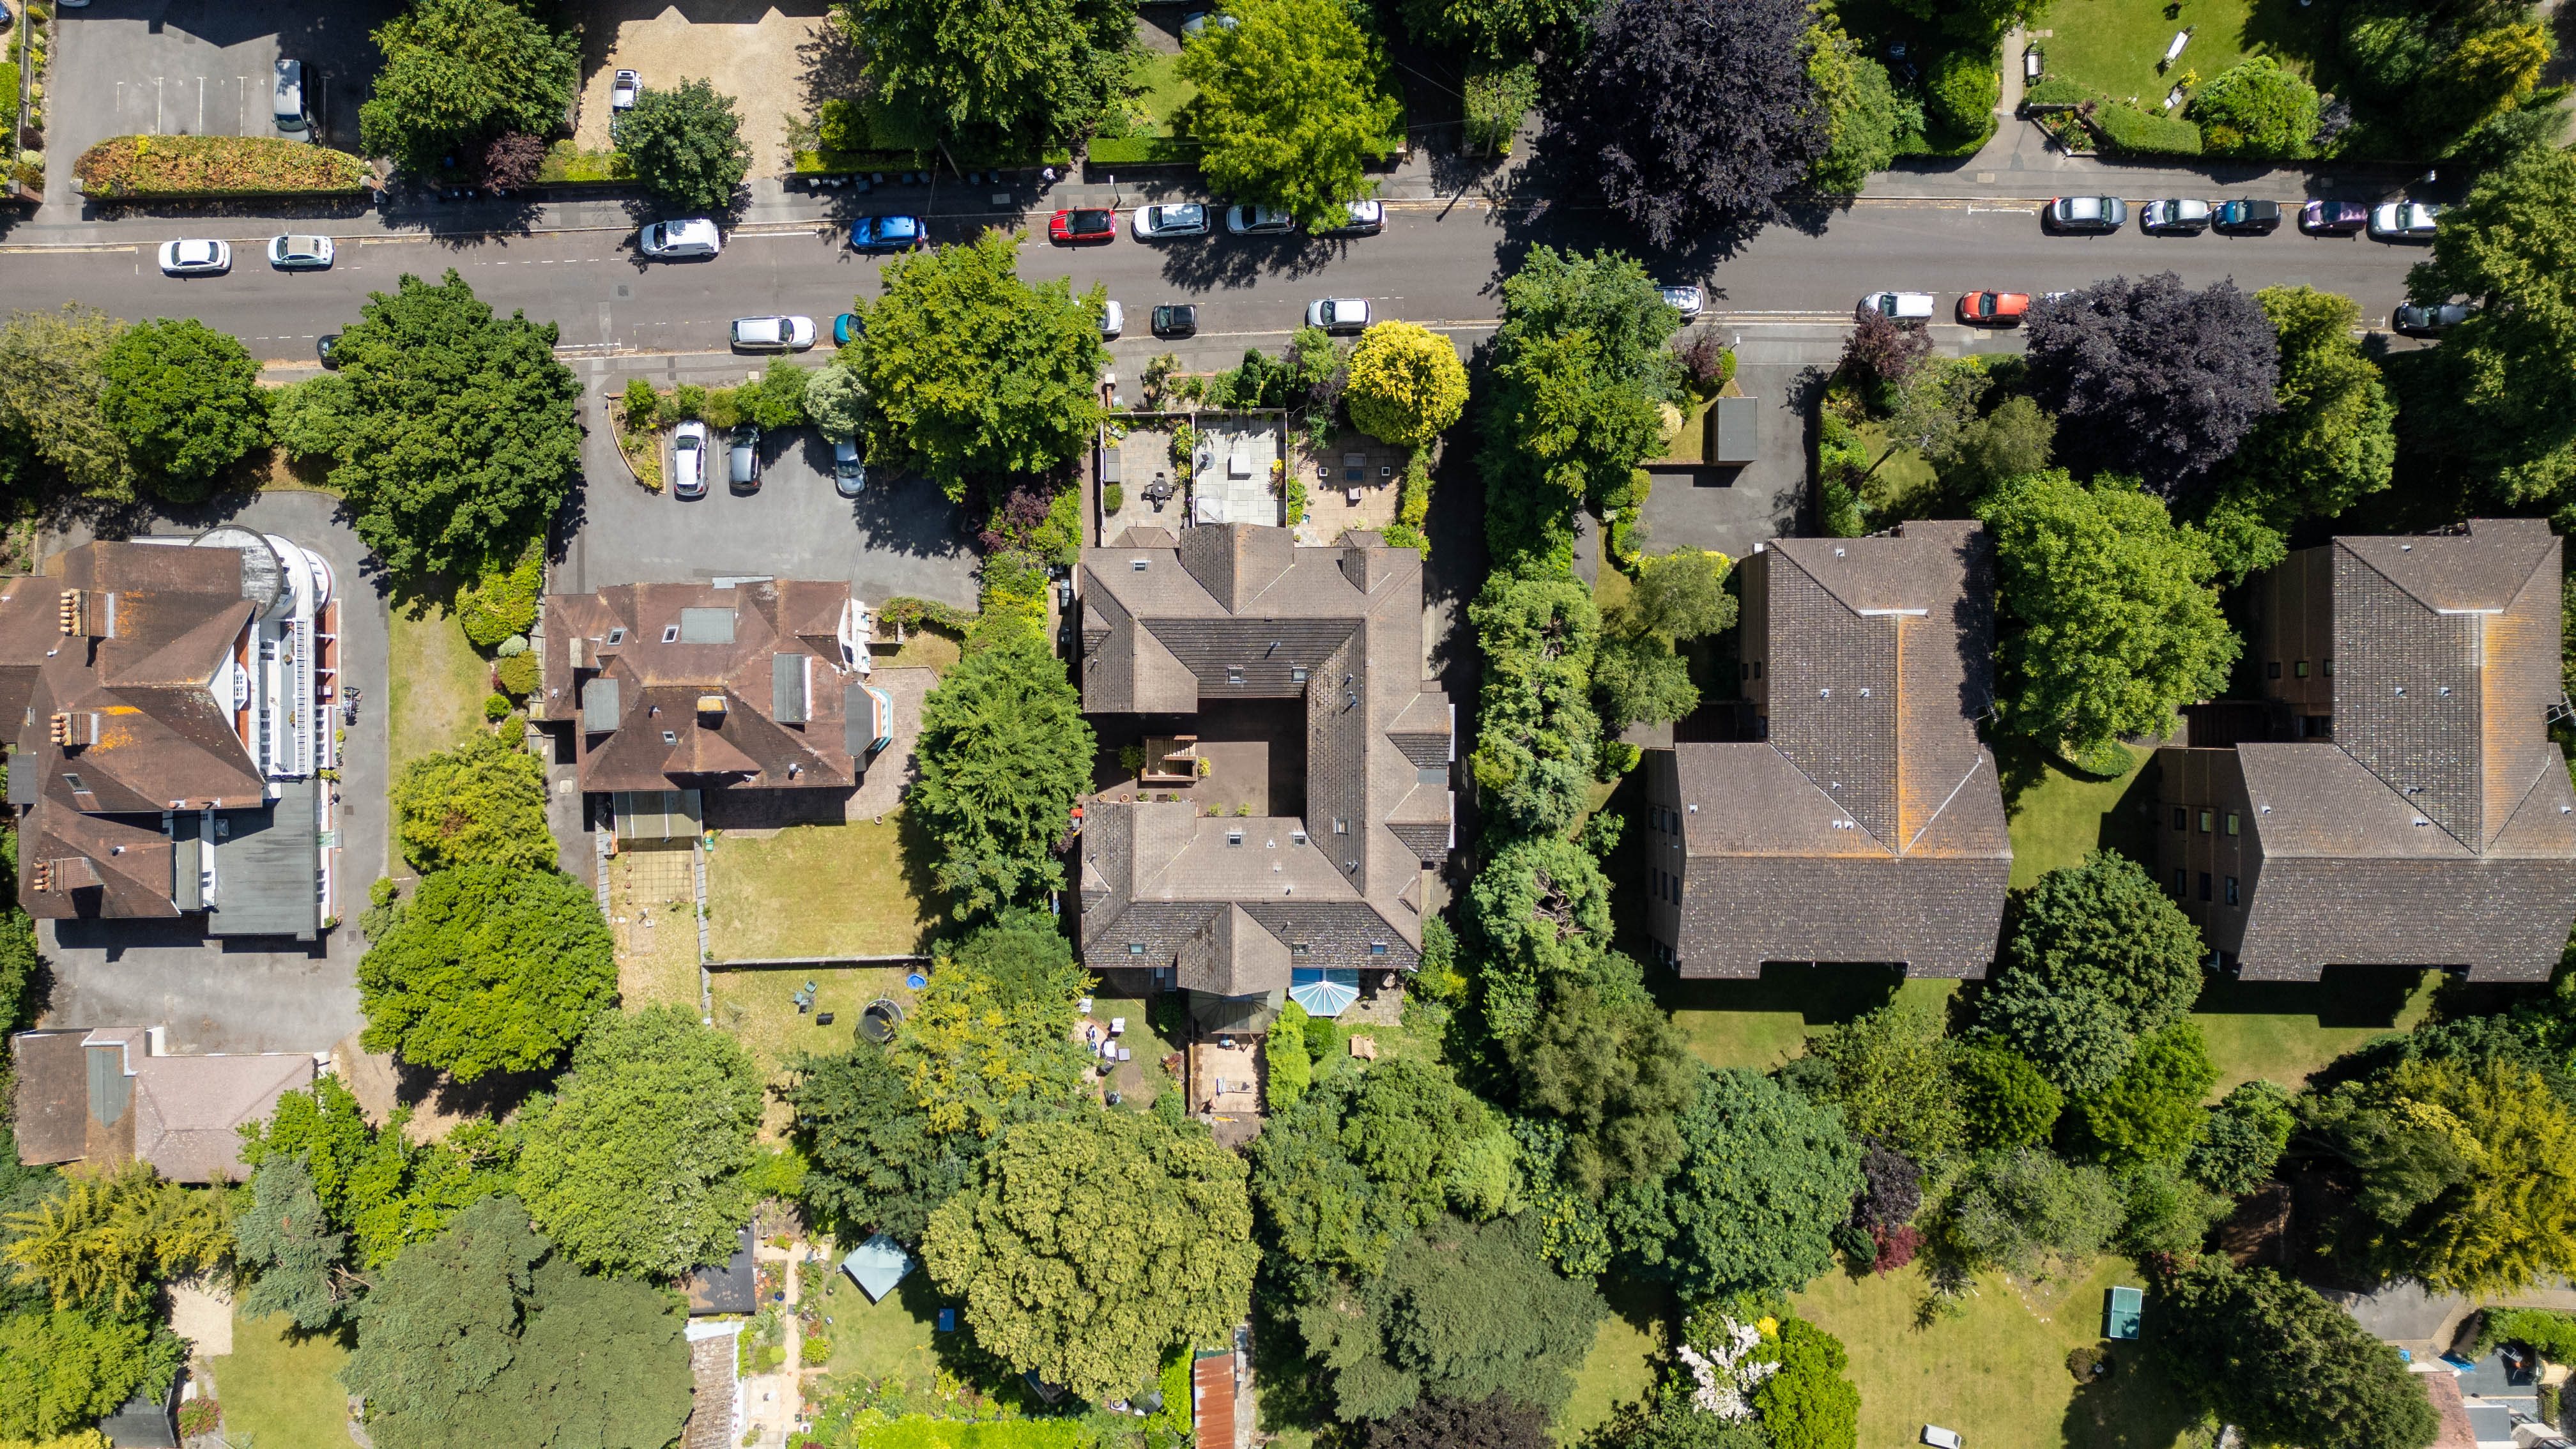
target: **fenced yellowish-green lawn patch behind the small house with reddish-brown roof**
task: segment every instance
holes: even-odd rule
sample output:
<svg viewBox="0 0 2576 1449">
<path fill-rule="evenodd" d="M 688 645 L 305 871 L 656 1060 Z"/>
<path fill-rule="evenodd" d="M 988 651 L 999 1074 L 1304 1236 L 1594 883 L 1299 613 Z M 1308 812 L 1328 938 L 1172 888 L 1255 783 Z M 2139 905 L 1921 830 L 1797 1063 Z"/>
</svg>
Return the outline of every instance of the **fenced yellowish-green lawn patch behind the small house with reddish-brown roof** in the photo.
<svg viewBox="0 0 2576 1449">
<path fill-rule="evenodd" d="M 706 864 L 708 949 L 757 957 L 899 957 L 938 928 L 927 871 L 904 851 L 904 817 L 884 825 L 788 825 L 726 835 Z"/>
</svg>

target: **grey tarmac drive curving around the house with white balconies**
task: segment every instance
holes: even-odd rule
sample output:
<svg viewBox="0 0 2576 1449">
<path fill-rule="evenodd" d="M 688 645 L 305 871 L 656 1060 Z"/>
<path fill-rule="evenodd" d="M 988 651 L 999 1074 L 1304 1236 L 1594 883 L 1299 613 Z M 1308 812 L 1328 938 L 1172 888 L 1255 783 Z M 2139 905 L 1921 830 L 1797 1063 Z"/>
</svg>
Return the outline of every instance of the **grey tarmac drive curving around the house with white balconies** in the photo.
<svg viewBox="0 0 2576 1449">
<path fill-rule="evenodd" d="M 363 1026 L 358 1016 L 355 915 L 366 887 L 384 874 L 389 802 L 384 779 L 386 606 L 366 549 L 337 521 L 327 492 L 263 492 L 206 508 L 155 516 L 142 534 L 198 534 L 245 523 L 283 534 L 330 559 L 340 588 L 340 650 L 348 683 L 363 691 L 358 724 L 340 750 L 340 882 L 343 923 L 322 941 L 206 938 L 185 920 L 39 920 L 52 990 L 41 1026 L 167 1026 L 175 1052 L 327 1052 Z M 46 554 L 88 541 L 88 531 L 46 536 Z"/>
</svg>

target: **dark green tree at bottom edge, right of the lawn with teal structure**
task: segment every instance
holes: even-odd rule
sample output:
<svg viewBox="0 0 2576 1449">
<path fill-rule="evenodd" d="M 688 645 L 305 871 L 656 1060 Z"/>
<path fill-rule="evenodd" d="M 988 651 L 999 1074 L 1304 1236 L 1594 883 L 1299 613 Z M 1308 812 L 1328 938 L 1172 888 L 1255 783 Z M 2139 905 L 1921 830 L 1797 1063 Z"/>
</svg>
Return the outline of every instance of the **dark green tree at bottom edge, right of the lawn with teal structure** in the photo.
<svg viewBox="0 0 2576 1449">
<path fill-rule="evenodd" d="M 2226 1258 L 2184 1266 L 2146 1302 L 2177 1385 L 2264 1444 L 2427 1449 L 2439 1418 L 2398 1351 L 2308 1284 Z"/>
</svg>

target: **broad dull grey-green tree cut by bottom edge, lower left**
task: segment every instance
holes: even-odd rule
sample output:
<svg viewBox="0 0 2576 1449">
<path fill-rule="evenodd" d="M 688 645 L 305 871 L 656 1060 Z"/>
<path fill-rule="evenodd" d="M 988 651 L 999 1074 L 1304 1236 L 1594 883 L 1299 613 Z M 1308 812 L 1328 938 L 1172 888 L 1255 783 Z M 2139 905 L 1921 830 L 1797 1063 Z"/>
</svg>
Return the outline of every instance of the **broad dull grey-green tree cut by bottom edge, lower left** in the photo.
<svg viewBox="0 0 2576 1449">
<path fill-rule="evenodd" d="M 340 1382 L 384 1449 L 670 1444 L 683 1323 L 670 1294 L 585 1276 L 492 1196 L 376 1276 Z"/>
</svg>

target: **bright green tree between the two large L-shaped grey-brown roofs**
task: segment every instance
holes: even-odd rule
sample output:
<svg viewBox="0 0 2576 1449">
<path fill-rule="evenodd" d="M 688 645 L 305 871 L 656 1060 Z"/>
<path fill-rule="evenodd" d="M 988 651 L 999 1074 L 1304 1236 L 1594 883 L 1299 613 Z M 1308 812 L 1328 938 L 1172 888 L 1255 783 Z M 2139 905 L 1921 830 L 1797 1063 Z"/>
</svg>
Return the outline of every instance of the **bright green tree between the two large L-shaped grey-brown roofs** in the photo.
<svg viewBox="0 0 2576 1449">
<path fill-rule="evenodd" d="M 1996 487 L 1978 516 L 2009 614 L 1996 663 L 2012 732 L 2092 768 L 2123 735 L 2169 735 L 2174 706 L 2226 688 L 2239 639 L 2218 614 L 2215 562 L 2161 500 L 2040 472 Z"/>
</svg>

